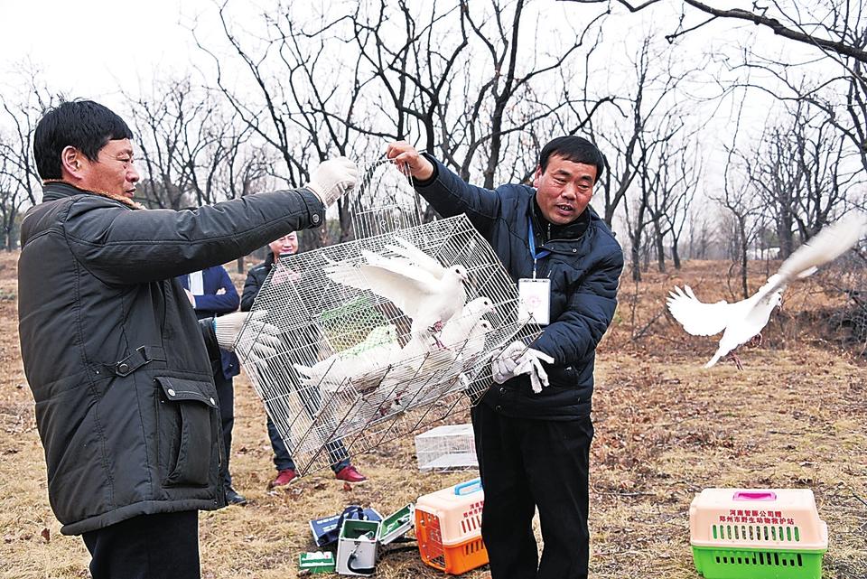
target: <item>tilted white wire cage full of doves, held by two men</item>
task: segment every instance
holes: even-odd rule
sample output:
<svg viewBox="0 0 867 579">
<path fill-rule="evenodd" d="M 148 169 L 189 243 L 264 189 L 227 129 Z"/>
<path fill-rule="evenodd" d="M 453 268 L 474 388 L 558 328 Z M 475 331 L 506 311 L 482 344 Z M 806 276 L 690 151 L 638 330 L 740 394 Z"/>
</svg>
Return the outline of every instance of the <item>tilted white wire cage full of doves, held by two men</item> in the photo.
<svg viewBox="0 0 867 579">
<path fill-rule="evenodd" d="M 415 191 L 394 165 L 370 163 L 364 175 L 353 227 L 374 235 L 281 257 L 251 312 L 272 327 L 279 347 L 259 354 L 261 326 L 249 322 L 236 346 L 301 473 L 469 406 L 491 384 L 491 355 L 511 341 L 528 342 L 536 328 L 518 317 L 516 285 L 465 215 L 419 223 Z M 363 279 L 357 267 L 369 258 L 365 251 L 400 259 L 397 237 L 444 267 L 466 270 L 468 305 L 437 334 L 447 342 L 420 341 L 396 304 L 329 275 L 337 266 Z"/>
</svg>

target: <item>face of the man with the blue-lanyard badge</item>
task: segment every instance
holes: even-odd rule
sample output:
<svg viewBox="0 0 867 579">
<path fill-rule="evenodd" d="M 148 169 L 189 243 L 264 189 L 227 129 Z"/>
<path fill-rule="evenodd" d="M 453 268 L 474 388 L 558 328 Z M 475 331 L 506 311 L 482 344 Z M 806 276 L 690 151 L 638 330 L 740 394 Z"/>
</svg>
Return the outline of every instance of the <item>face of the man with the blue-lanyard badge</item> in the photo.
<svg viewBox="0 0 867 579">
<path fill-rule="evenodd" d="M 572 223 L 587 208 L 595 182 L 595 165 L 573 163 L 558 154 L 551 155 L 545 172 L 542 167 L 536 168 L 533 179 L 542 215 L 556 225 Z"/>
</svg>

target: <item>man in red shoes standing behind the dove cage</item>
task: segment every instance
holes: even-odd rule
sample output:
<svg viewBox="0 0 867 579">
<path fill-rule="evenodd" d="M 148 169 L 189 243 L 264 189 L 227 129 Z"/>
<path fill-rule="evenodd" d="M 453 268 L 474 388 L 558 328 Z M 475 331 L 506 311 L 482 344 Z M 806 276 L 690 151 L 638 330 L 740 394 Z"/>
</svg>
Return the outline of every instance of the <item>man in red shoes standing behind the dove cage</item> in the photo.
<svg viewBox="0 0 867 579">
<path fill-rule="evenodd" d="M 265 284 L 266 277 L 274 267 L 276 260 L 281 256 L 291 256 L 298 252 L 298 234 L 296 232 L 284 235 L 282 238 L 277 238 L 268 244 L 270 252 L 265 258 L 265 261 L 258 266 L 251 267 L 247 272 L 247 281 L 244 283 L 244 291 L 241 294 L 241 312 L 249 312 L 253 308 L 253 303 L 256 301 L 256 295 Z M 306 400 L 305 403 L 311 406 L 318 406 L 319 400 Z M 315 412 L 315 407 L 309 408 Z M 269 488 L 280 487 L 294 481 L 298 477 L 298 472 L 295 469 L 295 463 L 292 460 L 292 455 L 286 449 L 280 433 L 277 432 L 277 427 L 271 416 L 268 416 L 268 437 L 271 439 L 271 448 L 274 450 L 274 465 L 277 469 L 277 476 L 268 484 Z M 349 453 L 346 452 L 346 447 L 340 441 L 328 445 L 328 453 L 331 458 L 331 470 L 334 472 L 335 478 L 340 481 L 347 482 L 364 482 L 368 478 L 361 474 L 350 463 Z"/>
</svg>

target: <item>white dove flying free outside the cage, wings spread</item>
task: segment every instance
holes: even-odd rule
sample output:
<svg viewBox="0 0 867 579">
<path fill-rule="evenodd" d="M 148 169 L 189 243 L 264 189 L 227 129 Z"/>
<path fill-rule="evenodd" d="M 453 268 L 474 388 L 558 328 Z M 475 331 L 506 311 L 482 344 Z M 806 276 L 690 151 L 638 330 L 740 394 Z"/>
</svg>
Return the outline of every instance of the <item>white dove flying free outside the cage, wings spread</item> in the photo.
<svg viewBox="0 0 867 579">
<path fill-rule="evenodd" d="M 729 304 L 724 300 L 704 304 L 688 285 L 675 287 L 669 293 L 668 310 L 684 330 L 694 336 L 711 336 L 723 332 L 719 349 L 704 368 L 713 366 L 722 356 L 743 343 L 760 335 L 767 325 L 770 313 L 780 304 L 781 295 L 796 279 L 816 273 L 818 266 L 842 256 L 867 234 L 867 219 L 861 212 L 853 212 L 819 231 L 783 262 L 776 274 L 768 278 L 758 292 L 749 298 Z M 732 358 L 741 369 L 740 360 Z"/>
</svg>

